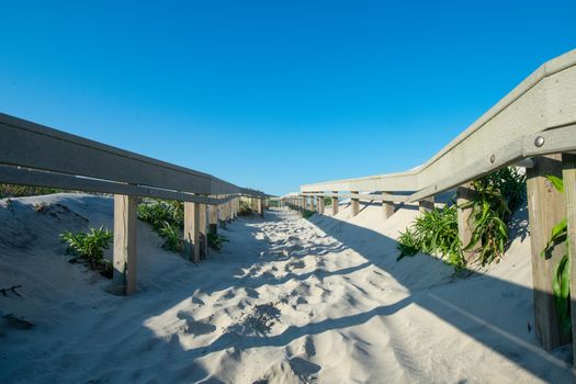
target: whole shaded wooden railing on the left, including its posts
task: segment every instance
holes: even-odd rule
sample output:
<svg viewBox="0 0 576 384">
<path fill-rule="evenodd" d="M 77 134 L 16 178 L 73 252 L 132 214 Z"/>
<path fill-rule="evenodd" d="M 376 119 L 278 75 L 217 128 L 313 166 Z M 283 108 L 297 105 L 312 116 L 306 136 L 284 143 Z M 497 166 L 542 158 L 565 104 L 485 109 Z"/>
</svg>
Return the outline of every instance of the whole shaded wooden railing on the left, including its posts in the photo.
<svg viewBox="0 0 576 384">
<path fill-rule="evenodd" d="M 136 206 L 140 196 L 184 202 L 184 248 L 207 255 L 208 226 L 237 216 L 239 199 L 263 215 L 268 195 L 211 174 L 0 114 L 0 182 L 114 194 L 114 285 L 136 290 Z"/>
</svg>

